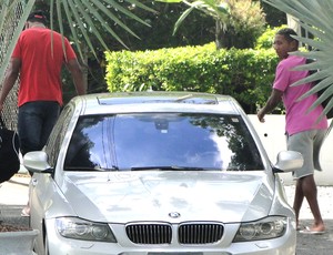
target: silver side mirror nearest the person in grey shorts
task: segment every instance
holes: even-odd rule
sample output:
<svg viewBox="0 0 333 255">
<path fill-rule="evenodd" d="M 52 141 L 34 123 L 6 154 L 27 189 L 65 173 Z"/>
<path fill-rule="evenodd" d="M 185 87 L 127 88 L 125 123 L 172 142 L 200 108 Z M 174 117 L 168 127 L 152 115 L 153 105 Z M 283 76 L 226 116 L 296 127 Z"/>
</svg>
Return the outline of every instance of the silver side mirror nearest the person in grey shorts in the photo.
<svg viewBox="0 0 333 255">
<path fill-rule="evenodd" d="M 278 154 L 274 172 L 293 172 L 303 166 L 304 159 L 300 152 L 282 151 Z"/>
</svg>

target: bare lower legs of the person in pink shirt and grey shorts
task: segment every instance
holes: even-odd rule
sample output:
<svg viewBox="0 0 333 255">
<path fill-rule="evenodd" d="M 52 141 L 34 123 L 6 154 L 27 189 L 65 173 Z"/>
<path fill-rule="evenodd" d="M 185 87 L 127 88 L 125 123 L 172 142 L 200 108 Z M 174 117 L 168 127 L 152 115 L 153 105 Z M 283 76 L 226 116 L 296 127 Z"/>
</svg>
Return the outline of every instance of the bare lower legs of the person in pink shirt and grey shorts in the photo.
<svg viewBox="0 0 333 255">
<path fill-rule="evenodd" d="M 314 217 L 314 224 L 312 231 L 324 231 L 324 222 L 320 212 L 317 204 L 317 190 L 314 182 L 313 175 L 307 175 L 297 180 L 295 200 L 294 200 L 294 210 L 296 214 L 296 221 L 299 221 L 300 210 L 302 205 L 303 197 L 306 198 L 310 210 Z"/>
</svg>

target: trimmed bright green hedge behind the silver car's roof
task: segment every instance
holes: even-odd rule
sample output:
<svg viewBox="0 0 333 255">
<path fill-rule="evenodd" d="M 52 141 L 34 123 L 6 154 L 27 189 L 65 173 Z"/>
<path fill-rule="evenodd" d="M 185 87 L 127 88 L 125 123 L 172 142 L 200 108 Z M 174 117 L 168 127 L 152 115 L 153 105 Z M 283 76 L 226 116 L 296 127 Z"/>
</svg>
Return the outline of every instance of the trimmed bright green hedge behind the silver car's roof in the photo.
<svg viewBox="0 0 333 255">
<path fill-rule="evenodd" d="M 115 91 L 200 91 L 234 96 L 255 113 L 271 92 L 275 52 L 203 47 L 105 52 L 107 83 Z"/>
</svg>

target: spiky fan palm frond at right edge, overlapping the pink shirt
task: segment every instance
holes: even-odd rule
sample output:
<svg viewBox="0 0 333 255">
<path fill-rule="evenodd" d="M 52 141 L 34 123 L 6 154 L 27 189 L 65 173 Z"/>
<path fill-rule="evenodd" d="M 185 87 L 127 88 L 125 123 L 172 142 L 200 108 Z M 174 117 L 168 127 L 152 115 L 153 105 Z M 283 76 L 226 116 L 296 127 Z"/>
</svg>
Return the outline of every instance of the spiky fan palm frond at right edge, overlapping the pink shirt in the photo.
<svg viewBox="0 0 333 255">
<path fill-rule="evenodd" d="M 326 114 L 333 108 L 333 1 L 332 0 L 263 0 L 264 2 L 275 7 L 276 9 L 291 14 L 300 21 L 300 26 L 314 35 L 310 39 L 305 35 L 299 35 L 296 39 L 310 48 L 312 51 L 297 51 L 292 54 L 302 55 L 314 59 L 312 63 L 307 63 L 299 68 L 299 70 L 317 70 L 310 76 L 296 82 L 294 85 L 304 82 L 319 81 L 315 86 L 305 93 L 300 100 L 323 91 L 316 102 L 310 108 L 314 109 L 323 101 L 329 99 L 329 103 L 324 109 Z M 331 126 L 333 126 L 333 122 Z"/>
</svg>

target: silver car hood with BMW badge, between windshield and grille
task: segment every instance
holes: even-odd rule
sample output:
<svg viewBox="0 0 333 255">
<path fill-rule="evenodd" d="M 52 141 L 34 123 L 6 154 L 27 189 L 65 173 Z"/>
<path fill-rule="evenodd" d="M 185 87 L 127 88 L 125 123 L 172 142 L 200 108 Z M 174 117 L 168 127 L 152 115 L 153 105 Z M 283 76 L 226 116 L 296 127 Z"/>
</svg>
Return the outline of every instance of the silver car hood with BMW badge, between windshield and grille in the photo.
<svg viewBox="0 0 333 255">
<path fill-rule="evenodd" d="M 241 222 L 269 214 L 273 187 L 266 177 L 263 172 L 69 173 L 61 190 L 77 216 L 97 222 Z"/>
</svg>

